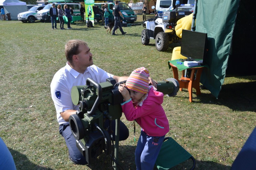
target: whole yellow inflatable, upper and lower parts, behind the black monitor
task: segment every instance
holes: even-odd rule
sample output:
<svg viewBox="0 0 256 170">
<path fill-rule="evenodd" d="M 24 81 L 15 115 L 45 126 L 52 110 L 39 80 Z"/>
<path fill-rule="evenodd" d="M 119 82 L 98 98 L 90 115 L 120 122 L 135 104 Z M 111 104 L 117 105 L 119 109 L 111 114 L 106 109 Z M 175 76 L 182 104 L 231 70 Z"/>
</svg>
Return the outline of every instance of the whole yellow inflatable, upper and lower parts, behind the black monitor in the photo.
<svg viewBox="0 0 256 170">
<path fill-rule="evenodd" d="M 193 19 L 193 13 L 191 13 L 189 16 L 185 16 L 177 21 L 177 25 L 175 27 L 175 31 L 178 37 L 182 37 L 182 30 L 191 30 L 192 25 L 192 19 Z M 171 60 L 177 60 L 177 59 L 186 59 L 187 57 L 181 55 L 181 47 L 175 47 L 172 50 L 172 59 Z"/>
</svg>

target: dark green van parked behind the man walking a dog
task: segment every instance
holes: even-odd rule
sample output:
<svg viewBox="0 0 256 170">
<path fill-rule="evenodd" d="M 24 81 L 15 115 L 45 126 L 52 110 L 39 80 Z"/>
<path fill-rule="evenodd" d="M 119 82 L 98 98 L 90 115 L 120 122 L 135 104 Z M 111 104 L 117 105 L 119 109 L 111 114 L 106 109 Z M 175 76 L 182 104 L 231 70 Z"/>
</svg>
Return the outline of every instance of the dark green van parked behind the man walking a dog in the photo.
<svg viewBox="0 0 256 170">
<path fill-rule="evenodd" d="M 100 13 L 101 13 L 101 7 L 104 4 L 105 3 L 94 3 L 94 6 L 97 6 L 99 11 L 100 11 Z M 108 22 L 114 22 L 113 7 L 114 7 L 115 4 L 114 3 L 106 3 L 106 4 L 108 5 L 108 13 L 109 13 Z M 128 6 L 128 4 L 126 4 L 124 2 L 119 2 L 118 5 L 120 7 L 121 13 L 123 14 L 124 21 L 133 23 L 134 21 L 137 20 L 137 15 L 132 10 L 132 8 L 130 8 Z M 100 18 L 100 20 L 101 20 L 101 18 Z"/>
</svg>

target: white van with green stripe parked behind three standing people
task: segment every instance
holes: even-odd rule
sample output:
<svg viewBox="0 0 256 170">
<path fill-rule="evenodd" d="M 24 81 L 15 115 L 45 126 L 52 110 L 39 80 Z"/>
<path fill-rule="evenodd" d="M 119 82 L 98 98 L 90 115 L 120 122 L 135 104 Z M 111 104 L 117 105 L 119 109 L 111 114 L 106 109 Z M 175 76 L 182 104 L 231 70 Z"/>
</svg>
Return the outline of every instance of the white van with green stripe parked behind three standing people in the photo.
<svg viewBox="0 0 256 170">
<path fill-rule="evenodd" d="M 72 7 L 73 9 L 73 15 L 77 16 L 80 15 L 80 7 L 81 4 L 75 4 L 75 3 L 66 3 L 68 7 Z M 51 17 L 50 17 L 50 7 L 52 7 L 53 4 L 47 4 L 42 10 L 37 12 L 37 19 L 41 21 L 48 21 L 50 22 Z M 65 3 L 55 3 L 56 7 L 58 5 L 61 5 L 62 10 L 64 10 L 64 5 Z"/>
</svg>

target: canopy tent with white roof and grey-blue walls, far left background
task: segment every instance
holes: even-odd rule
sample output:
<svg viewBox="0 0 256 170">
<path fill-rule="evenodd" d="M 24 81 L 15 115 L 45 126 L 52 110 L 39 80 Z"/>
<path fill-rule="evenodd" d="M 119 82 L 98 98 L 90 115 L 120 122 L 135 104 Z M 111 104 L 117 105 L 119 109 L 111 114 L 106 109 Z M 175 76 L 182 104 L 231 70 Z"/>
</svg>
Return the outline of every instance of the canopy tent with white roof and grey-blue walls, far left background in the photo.
<svg viewBox="0 0 256 170">
<path fill-rule="evenodd" d="M 18 19 L 18 14 L 28 10 L 26 2 L 19 0 L 0 0 L 0 6 L 4 6 L 5 15 L 10 13 L 11 19 Z"/>
</svg>

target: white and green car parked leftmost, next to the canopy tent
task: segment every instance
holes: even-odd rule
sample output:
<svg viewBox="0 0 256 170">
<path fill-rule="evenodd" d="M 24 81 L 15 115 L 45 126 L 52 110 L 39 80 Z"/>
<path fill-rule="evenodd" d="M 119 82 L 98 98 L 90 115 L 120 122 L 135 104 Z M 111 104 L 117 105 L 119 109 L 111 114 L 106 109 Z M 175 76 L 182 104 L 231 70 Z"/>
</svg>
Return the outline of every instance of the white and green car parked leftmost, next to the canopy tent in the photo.
<svg viewBox="0 0 256 170">
<path fill-rule="evenodd" d="M 33 23 L 37 20 L 36 14 L 39 10 L 43 9 L 45 5 L 33 6 L 28 11 L 18 14 L 18 20 L 21 22 Z"/>
</svg>

